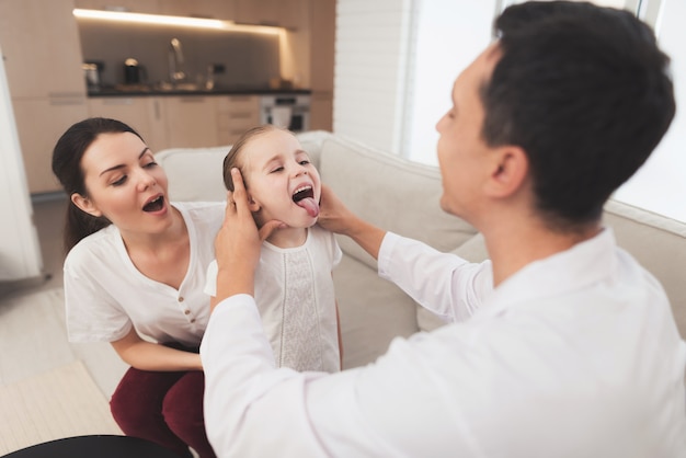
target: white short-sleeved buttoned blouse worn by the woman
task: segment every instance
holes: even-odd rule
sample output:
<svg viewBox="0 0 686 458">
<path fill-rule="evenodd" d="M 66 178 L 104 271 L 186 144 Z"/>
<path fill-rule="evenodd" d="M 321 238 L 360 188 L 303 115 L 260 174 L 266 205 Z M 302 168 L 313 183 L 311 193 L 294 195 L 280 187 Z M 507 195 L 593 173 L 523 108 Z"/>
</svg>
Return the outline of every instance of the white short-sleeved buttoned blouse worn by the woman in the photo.
<svg viewBox="0 0 686 458">
<path fill-rule="evenodd" d="M 188 230 L 188 270 L 179 289 L 152 280 L 134 265 L 111 225 L 81 240 L 65 261 L 67 330 L 71 342 L 113 342 L 135 327 L 157 342 L 199 345 L 209 319 L 203 293 L 222 203 L 174 203 Z"/>
</svg>

